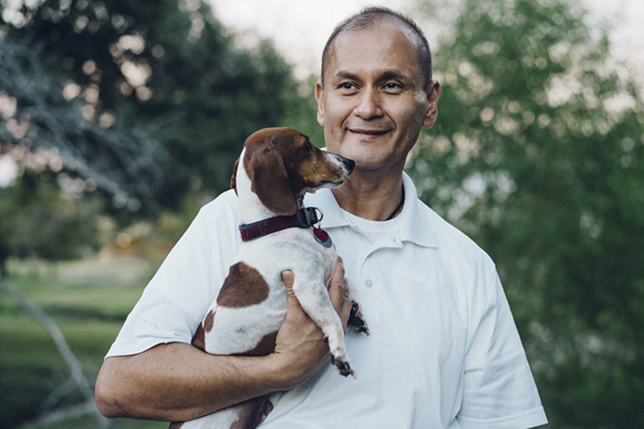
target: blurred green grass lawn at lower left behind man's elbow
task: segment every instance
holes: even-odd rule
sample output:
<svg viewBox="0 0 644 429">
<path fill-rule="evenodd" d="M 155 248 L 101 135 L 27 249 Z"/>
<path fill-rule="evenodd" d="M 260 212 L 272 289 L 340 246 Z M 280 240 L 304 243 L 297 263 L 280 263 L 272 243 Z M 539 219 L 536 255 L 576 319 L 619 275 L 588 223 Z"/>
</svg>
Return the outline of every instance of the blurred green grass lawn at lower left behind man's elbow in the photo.
<svg viewBox="0 0 644 429">
<path fill-rule="evenodd" d="M 129 264 L 129 265 L 128 265 Z M 20 269 L 8 282 L 55 321 L 72 352 L 93 383 L 109 345 L 116 337 L 129 310 L 138 300 L 147 276 L 134 279 L 103 274 L 93 281 L 88 271 L 82 277 L 67 275 L 68 266 L 30 276 Z M 124 263 L 131 270 L 132 262 Z M 70 268 L 71 267 L 71 268 Z M 137 265 L 140 269 L 140 264 Z M 147 272 L 149 270 L 144 270 Z M 123 281 L 127 278 L 128 281 Z M 0 426 L 3 428 L 74 429 L 95 428 L 91 414 L 50 424 L 26 424 L 60 407 L 81 403 L 83 397 L 68 382 L 70 370 L 44 327 L 28 314 L 12 296 L 0 291 Z M 167 423 L 117 419 L 111 428 L 167 428 Z"/>
</svg>

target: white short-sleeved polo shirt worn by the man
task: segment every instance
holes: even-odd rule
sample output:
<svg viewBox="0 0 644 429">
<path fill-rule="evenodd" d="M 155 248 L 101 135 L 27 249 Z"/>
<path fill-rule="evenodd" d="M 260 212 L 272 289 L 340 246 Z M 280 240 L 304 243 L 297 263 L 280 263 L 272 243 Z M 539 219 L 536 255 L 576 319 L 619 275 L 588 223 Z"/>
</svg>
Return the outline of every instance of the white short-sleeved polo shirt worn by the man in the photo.
<svg viewBox="0 0 644 429">
<path fill-rule="evenodd" d="M 324 213 L 371 335 L 349 332 L 357 379 L 325 366 L 272 398 L 261 428 L 522 429 L 547 423 L 494 263 L 416 197 L 372 222 L 307 195 Z M 108 356 L 190 343 L 234 260 L 232 191 L 202 207 L 147 285 Z"/>
</svg>

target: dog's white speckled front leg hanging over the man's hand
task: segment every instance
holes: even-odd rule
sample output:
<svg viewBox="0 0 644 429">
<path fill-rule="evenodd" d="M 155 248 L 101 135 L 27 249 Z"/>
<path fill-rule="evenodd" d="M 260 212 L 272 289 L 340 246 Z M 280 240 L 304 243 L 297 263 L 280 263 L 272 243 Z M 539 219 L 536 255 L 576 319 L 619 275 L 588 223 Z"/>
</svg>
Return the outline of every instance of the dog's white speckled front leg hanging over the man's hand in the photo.
<svg viewBox="0 0 644 429">
<path fill-rule="evenodd" d="M 346 353 L 345 330 L 328 296 L 327 287 L 321 281 L 309 281 L 302 276 L 299 276 L 298 280 L 298 273 L 294 274 L 293 292 L 308 317 L 324 332 L 332 354 L 332 362 L 340 374 L 345 377 L 351 374 L 355 378 L 355 372 Z"/>
</svg>

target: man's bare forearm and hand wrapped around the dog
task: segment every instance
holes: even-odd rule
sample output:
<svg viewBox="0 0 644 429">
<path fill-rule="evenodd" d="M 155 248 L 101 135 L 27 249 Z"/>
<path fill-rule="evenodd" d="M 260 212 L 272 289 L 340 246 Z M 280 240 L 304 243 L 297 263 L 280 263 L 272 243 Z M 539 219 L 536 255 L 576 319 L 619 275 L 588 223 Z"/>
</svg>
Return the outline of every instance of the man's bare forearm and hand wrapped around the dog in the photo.
<svg viewBox="0 0 644 429">
<path fill-rule="evenodd" d="M 351 305 L 344 297 L 344 274 L 338 263 L 329 294 L 346 325 Z M 108 357 L 96 382 L 100 412 L 107 417 L 185 421 L 307 381 L 328 363 L 328 346 L 292 291 L 292 273 L 283 273 L 283 280 L 288 310 L 272 354 L 220 356 L 169 343 L 132 356 Z"/>
</svg>

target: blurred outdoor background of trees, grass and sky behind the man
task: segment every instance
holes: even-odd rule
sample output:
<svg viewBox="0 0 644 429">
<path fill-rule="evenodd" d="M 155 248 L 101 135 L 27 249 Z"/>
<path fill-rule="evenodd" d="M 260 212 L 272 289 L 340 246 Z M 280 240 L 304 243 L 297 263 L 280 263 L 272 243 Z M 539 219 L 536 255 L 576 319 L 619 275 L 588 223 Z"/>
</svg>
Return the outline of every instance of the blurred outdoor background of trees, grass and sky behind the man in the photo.
<svg viewBox="0 0 644 429">
<path fill-rule="evenodd" d="M 644 428 L 643 6 L 380 3 L 442 84 L 407 171 L 497 262 L 549 427 Z M 0 5 L 0 428 L 165 428 L 97 415 L 102 357 L 247 135 L 323 146 L 319 55 L 363 4 Z"/>
</svg>

